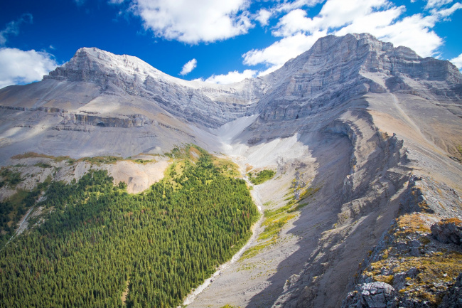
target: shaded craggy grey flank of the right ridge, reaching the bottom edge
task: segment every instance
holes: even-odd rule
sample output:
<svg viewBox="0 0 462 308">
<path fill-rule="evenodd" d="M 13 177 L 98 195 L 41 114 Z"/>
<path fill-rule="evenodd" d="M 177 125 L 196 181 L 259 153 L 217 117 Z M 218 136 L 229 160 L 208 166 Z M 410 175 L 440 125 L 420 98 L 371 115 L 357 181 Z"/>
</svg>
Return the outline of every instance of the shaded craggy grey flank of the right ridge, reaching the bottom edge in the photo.
<svg viewBox="0 0 462 308">
<path fill-rule="evenodd" d="M 402 142 L 376 131 L 365 104 L 350 105 L 345 126 L 339 114 L 324 117 L 299 137 L 318 165 L 311 187 L 320 189 L 287 231 L 299 238 L 299 249 L 247 307 L 340 307 L 360 263 L 395 218 L 409 171 L 399 165 Z M 349 174 L 357 163 L 353 188 Z"/>
</svg>

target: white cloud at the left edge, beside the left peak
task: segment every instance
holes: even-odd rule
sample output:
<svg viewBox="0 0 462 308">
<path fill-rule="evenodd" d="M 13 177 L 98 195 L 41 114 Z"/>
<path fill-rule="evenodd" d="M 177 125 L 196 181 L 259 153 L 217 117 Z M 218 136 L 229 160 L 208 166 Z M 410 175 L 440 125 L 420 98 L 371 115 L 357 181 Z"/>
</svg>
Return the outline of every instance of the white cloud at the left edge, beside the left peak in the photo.
<svg viewBox="0 0 462 308">
<path fill-rule="evenodd" d="M 0 88 L 41 80 L 56 66 L 58 63 L 50 53 L 0 48 Z"/>
</svg>

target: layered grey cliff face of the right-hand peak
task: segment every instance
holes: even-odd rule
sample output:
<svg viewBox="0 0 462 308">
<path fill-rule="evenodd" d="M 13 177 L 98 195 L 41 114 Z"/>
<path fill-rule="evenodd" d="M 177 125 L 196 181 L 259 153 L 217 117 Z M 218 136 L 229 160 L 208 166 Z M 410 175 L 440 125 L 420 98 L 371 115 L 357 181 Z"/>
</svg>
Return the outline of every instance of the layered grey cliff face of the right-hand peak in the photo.
<svg viewBox="0 0 462 308">
<path fill-rule="evenodd" d="M 410 82 L 417 78 L 428 88 Z M 275 88 L 262 98 L 257 110 L 262 119 L 272 121 L 306 117 L 367 92 L 423 97 L 434 92 L 458 99 L 461 93 L 456 85 L 462 82 L 448 61 L 420 58 L 409 48 L 393 48 L 367 34 L 321 38 L 309 51 L 262 79 Z"/>
</svg>

